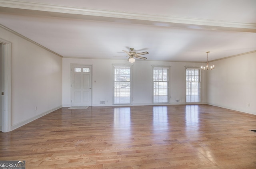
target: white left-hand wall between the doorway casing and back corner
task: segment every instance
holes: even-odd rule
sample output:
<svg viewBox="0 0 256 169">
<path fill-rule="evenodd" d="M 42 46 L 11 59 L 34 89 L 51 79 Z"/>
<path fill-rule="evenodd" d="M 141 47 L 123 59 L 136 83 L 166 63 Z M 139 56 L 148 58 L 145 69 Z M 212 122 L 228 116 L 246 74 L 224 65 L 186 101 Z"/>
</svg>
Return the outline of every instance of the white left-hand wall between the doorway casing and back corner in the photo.
<svg viewBox="0 0 256 169">
<path fill-rule="evenodd" d="M 62 106 L 62 58 L 4 28 L 0 28 L 0 37 L 12 43 L 14 130 Z"/>
</svg>

